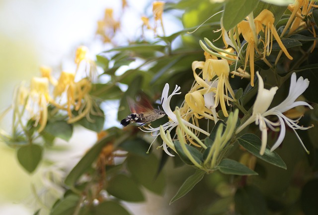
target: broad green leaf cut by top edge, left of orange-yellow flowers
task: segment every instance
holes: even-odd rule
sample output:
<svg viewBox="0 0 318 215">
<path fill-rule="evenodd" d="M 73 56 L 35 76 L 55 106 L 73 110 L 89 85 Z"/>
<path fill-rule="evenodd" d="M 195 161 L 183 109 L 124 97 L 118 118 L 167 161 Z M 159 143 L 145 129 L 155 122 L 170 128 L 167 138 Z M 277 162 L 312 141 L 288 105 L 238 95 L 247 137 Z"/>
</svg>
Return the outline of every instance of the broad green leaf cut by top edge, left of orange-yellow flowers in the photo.
<svg viewBox="0 0 318 215">
<path fill-rule="evenodd" d="M 231 30 L 252 12 L 259 0 L 228 0 L 223 13 L 223 26 L 226 31 Z"/>
</svg>

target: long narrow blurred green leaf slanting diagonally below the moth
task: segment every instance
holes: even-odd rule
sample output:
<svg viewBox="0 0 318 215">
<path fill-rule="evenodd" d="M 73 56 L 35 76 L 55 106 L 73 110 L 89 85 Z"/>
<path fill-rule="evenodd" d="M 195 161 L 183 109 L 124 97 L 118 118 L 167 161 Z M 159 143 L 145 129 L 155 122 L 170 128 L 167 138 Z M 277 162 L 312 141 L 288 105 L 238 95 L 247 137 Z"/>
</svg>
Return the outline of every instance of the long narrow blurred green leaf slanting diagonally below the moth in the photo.
<svg viewBox="0 0 318 215">
<path fill-rule="evenodd" d="M 90 150 L 83 156 L 83 158 L 71 170 L 65 179 L 65 184 L 73 187 L 79 177 L 91 166 L 91 164 L 98 158 L 99 153 L 108 142 L 115 137 L 115 134 L 108 134 L 107 137 L 98 141 Z"/>
</svg>

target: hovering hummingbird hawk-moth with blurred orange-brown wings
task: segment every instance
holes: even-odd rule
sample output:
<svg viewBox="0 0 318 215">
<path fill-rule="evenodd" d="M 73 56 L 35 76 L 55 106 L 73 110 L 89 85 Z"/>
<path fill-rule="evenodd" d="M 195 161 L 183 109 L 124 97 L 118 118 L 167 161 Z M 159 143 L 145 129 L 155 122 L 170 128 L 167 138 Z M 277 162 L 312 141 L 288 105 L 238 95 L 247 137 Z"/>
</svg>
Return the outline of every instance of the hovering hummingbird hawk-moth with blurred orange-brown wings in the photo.
<svg viewBox="0 0 318 215">
<path fill-rule="evenodd" d="M 135 103 L 132 99 L 128 98 L 128 105 L 130 107 L 131 114 L 129 114 L 126 118 L 120 121 L 120 124 L 123 126 L 127 126 L 130 123 L 142 123 L 144 125 L 146 123 L 155 121 L 165 115 L 165 112 L 160 109 L 155 109 L 146 95 L 141 95 L 140 101 Z"/>
</svg>

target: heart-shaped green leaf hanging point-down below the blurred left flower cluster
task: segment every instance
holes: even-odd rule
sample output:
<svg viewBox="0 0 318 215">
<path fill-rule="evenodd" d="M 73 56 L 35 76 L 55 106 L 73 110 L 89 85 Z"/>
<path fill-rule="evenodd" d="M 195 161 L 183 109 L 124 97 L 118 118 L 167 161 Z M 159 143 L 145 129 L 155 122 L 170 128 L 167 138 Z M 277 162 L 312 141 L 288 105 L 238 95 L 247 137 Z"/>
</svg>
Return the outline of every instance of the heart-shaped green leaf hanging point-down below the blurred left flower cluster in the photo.
<svg viewBox="0 0 318 215">
<path fill-rule="evenodd" d="M 42 159 L 42 152 L 43 149 L 39 145 L 26 145 L 18 149 L 17 158 L 23 168 L 32 173 Z"/>
</svg>

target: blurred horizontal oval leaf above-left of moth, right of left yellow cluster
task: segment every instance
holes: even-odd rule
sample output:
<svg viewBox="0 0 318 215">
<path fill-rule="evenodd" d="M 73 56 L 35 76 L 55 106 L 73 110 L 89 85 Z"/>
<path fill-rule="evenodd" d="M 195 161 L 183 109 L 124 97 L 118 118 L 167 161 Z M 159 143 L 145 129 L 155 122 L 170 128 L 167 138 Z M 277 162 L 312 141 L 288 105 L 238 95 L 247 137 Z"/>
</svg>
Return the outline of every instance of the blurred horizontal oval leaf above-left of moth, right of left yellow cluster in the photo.
<svg viewBox="0 0 318 215">
<path fill-rule="evenodd" d="M 90 95 L 98 97 L 101 100 L 120 99 L 124 93 L 114 84 L 93 84 Z"/>
</svg>

